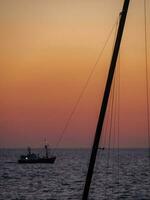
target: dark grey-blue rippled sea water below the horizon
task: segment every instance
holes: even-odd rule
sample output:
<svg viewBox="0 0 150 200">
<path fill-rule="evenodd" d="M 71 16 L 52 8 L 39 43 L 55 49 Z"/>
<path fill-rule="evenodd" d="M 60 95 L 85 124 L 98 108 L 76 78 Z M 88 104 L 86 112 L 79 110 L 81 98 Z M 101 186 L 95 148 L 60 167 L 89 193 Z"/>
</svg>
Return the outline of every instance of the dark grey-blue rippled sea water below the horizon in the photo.
<svg viewBox="0 0 150 200">
<path fill-rule="evenodd" d="M 90 150 L 55 150 L 54 164 L 17 164 L 24 153 L 0 150 L 0 200 L 82 199 Z M 89 200 L 150 200 L 149 161 L 146 149 L 99 150 Z"/>
</svg>

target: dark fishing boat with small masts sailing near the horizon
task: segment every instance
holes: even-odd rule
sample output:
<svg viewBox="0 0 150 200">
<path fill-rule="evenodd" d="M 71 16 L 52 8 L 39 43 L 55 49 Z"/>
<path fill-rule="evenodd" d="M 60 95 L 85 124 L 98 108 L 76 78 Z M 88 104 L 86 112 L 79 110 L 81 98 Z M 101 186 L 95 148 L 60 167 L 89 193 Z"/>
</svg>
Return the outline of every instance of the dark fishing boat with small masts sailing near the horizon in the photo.
<svg viewBox="0 0 150 200">
<path fill-rule="evenodd" d="M 45 145 L 45 156 L 40 157 L 39 154 L 31 153 L 31 148 L 28 147 L 26 155 L 21 155 L 18 159 L 18 163 L 50 163 L 53 164 L 56 160 L 56 156 L 49 157 L 48 155 L 48 145 Z"/>
</svg>

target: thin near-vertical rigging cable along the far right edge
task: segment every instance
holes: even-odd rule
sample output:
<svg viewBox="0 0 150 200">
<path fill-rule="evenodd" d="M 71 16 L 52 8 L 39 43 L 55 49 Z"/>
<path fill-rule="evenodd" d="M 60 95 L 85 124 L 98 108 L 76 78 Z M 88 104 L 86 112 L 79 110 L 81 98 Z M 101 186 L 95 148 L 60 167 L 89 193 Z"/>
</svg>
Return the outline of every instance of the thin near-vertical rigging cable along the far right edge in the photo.
<svg viewBox="0 0 150 200">
<path fill-rule="evenodd" d="M 144 0 L 144 31 L 145 31 L 145 67 L 146 67 L 146 103 L 147 103 L 147 132 L 148 132 L 148 152 L 150 158 L 150 114 L 149 114 L 149 81 L 148 81 L 148 47 L 147 47 L 147 12 L 146 0 Z M 149 160 L 150 164 L 150 160 Z"/>
</svg>

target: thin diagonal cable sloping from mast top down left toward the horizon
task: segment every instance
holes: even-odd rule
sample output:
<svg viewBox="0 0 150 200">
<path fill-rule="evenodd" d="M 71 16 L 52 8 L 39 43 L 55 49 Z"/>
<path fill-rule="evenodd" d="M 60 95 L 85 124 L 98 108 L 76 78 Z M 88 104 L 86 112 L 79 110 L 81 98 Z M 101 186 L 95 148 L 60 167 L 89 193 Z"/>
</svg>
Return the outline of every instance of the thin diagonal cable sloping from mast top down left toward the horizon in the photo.
<svg viewBox="0 0 150 200">
<path fill-rule="evenodd" d="M 75 105 L 73 106 L 73 109 L 72 109 L 72 111 L 71 111 L 71 113 L 70 113 L 70 115 L 69 115 L 69 117 L 68 117 L 68 119 L 67 119 L 67 121 L 66 121 L 66 123 L 65 123 L 65 126 L 64 126 L 64 128 L 63 128 L 63 130 L 62 130 L 62 133 L 61 133 L 61 135 L 60 135 L 58 141 L 56 142 L 55 148 L 57 148 L 57 147 L 59 146 L 59 144 L 61 143 L 61 141 L 62 141 L 62 139 L 63 139 L 63 136 L 64 136 L 64 134 L 65 134 L 65 132 L 66 132 L 68 126 L 69 126 L 70 121 L 72 120 L 72 117 L 73 117 L 73 115 L 74 115 L 74 113 L 75 113 L 75 111 L 76 111 L 76 109 L 77 109 L 77 106 L 79 105 L 80 100 L 81 100 L 83 94 L 85 93 L 85 90 L 87 89 L 88 83 L 89 83 L 89 81 L 91 80 L 91 77 L 92 77 L 92 75 L 93 75 L 93 73 L 94 73 L 94 71 L 95 71 L 95 68 L 96 68 L 96 66 L 97 66 L 97 64 L 98 64 L 98 62 L 99 62 L 99 60 L 100 60 L 100 58 L 101 58 L 101 56 L 102 56 L 102 54 L 103 54 L 103 52 L 104 52 L 106 46 L 107 46 L 107 43 L 108 43 L 109 40 L 110 40 L 110 37 L 111 37 L 111 35 L 112 35 L 112 33 L 113 33 L 113 30 L 114 30 L 114 28 L 115 28 L 115 26 L 116 26 L 116 23 L 118 23 L 118 17 L 117 17 L 117 20 L 116 20 L 115 23 L 113 24 L 113 26 L 112 26 L 112 28 L 111 28 L 111 30 L 110 30 L 108 36 L 107 36 L 107 39 L 106 39 L 106 41 L 105 41 L 105 43 L 104 43 L 104 46 L 103 46 L 102 50 L 100 51 L 100 53 L 99 53 L 99 55 L 98 55 L 98 57 L 97 57 L 97 60 L 96 60 L 95 64 L 93 65 L 93 67 L 92 67 L 92 69 L 91 69 L 91 71 L 90 71 L 90 74 L 89 74 L 89 76 L 88 76 L 88 78 L 87 78 L 87 80 L 86 80 L 86 82 L 85 82 L 85 85 L 84 85 L 83 89 L 81 90 L 81 93 L 80 93 L 80 95 L 79 95 L 79 97 L 78 97 L 78 99 L 77 99 Z"/>
</svg>

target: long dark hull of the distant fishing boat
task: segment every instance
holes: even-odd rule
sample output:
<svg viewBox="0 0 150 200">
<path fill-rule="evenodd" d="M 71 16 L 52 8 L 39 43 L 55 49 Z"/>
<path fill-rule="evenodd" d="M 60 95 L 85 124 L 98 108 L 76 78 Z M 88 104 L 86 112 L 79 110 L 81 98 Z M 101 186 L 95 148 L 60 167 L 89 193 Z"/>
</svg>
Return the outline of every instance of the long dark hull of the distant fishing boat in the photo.
<svg viewBox="0 0 150 200">
<path fill-rule="evenodd" d="M 19 159 L 18 163 L 19 164 L 32 164 L 32 163 L 49 163 L 53 164 L 56 160 L 56 157 L 51 157 L 51 158 L 38 158 L 38 159 Z"/>
</svg>

